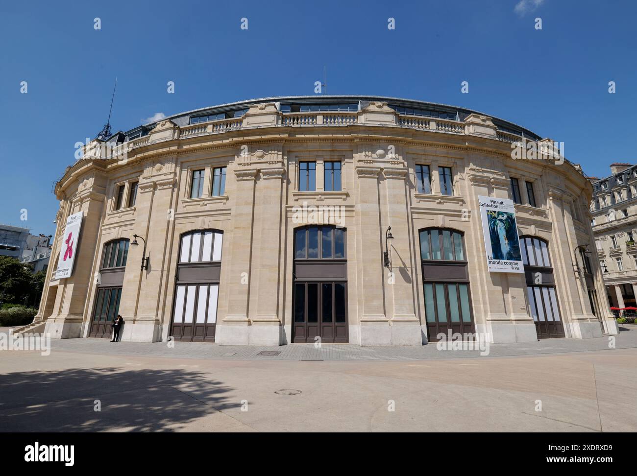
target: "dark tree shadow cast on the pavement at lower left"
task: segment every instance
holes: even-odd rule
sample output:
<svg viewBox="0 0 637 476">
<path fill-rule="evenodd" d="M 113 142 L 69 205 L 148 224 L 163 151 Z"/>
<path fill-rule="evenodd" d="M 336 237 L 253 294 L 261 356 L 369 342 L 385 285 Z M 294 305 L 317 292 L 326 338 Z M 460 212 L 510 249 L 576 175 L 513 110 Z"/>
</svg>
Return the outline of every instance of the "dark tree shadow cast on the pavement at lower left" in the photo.
<svg viewBox="0 0 637 476">
<path fill-rule="evenodd" d="M 239 407 L 230 390 L 190 370 L 15 372 L 0 375 L 0 431 L 175 431 Z"/>
</svg>

